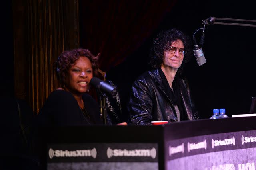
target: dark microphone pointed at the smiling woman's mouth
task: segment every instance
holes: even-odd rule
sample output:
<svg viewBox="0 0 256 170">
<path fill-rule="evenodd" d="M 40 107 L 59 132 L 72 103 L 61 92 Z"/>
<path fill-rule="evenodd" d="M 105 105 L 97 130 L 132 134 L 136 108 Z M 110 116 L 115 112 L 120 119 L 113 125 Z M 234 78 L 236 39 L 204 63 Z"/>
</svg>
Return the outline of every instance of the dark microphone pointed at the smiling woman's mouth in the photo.
<svg viewBox="0 0 256 170">
<path fill-rule="evenodd" d="M 117 90 L 115 87 L 111 86 L 110 84 L 100 80 L 99 78 L 93 77 L 90 80 L 90 84 L 100 90 L 100 92 L 105 92 L 110 94 L 112 97 L 116 96 Z"/>
</svg>

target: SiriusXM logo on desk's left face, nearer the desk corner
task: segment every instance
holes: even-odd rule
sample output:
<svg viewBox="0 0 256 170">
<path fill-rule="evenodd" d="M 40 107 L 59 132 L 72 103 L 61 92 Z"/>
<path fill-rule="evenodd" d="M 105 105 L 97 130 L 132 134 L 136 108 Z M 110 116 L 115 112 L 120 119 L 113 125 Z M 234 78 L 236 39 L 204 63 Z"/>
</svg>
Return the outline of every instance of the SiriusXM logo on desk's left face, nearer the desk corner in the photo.
<svg viewBox="0 0 256 170">
<path fill-rule="evenodd" d="M 108 147 L 107 156 L 111 158 L 112 156 L 144 156 L 156 158 L 156 149 L 135 149 L 135 150 L 122 150 L 122 149 L 111 149 Z"/>
</svg>

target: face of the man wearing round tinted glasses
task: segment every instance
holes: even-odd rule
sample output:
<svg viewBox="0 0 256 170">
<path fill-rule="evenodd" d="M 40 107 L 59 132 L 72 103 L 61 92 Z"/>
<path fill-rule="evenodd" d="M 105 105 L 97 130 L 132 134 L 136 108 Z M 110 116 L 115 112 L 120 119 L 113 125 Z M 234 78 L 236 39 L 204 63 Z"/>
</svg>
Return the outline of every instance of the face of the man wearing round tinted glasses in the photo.
<svg viewBox="0 0 256 170">
<path fill-rule="evenodd" d="M 184 55 L 180 53 L 184 49 L 183 42 L 180 39 L 172 42 L 172 47 L 176 47 L 177 50 L 174 53 L 171 51 L 164 51 L 163 65 L 164 67 L 170 67 L 174 69 L 180 68 Z"/>
</svg>

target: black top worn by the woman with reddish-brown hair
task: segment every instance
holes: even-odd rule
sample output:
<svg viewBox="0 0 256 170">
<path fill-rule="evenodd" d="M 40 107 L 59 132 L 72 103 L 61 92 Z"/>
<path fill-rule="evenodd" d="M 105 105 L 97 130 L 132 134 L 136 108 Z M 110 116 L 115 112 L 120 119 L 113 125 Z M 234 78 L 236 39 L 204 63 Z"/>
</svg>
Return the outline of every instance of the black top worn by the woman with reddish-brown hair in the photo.
<svg viewBox="0 0 256 170">
<path fill-rule="evenodd" d="M 55 90 L 38 113 L 39 126 L 83 126 L 102 124 L 100 107 L 89 94 L 82 96 L 81 109 L 70 92 Z"/>
</svg>

